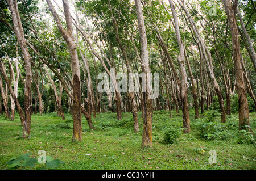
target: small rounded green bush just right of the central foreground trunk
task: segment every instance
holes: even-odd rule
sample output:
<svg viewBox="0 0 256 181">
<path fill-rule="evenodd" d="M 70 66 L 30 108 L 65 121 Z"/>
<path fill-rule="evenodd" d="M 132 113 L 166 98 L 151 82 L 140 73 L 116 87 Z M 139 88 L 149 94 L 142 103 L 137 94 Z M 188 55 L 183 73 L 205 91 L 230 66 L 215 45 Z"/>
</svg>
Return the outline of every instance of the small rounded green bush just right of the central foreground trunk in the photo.
<svg viewBox="0 0 256 181">
<path fill-rule="evenodd" d="M 163 143 L 174 144 L 175 142 L 177 142 L 177 138 L 180 137 L 180 132 L 180 128 L 167 127 L 166 129 L 164 129 Z"/>
</svg>

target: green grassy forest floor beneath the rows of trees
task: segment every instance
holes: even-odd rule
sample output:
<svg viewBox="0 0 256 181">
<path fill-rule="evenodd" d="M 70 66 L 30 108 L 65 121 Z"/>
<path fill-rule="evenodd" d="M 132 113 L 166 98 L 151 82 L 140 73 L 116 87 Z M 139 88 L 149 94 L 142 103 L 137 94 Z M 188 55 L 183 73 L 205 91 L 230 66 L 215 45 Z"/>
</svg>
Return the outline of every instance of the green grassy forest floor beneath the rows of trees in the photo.
<svg viewBox="0 0 256 181">
<path fill-rule="evenodd" d="M 31 137 L 21 137 L 22 127 L 16 113 L 15 120 L 0 116 L 0 169 L 9 169 L 8 161 L 19 155 L 31 153 L 38 158 L 39 150 L 64 161 L 56 169 L 256 169 L 256 144 L 247 132 L 238 132 L 238 114 L 227 116 L 227 123 L 220 123 L 217 111 L 206 111 L 200 119 L 191 113 L 191 133 L 182 133 L 182 113 L 154 111 L 153 141 L 151 148 L 141 148 L 142 117 L 139 115 L 138 133 L 133 131 L 133 116 L 106 112 L 92 117 L 91 130 L 82 117 L 82 142 L 72 142 L 72 116 L 65 114 L 61 120 L 56 113 L 33 115 Z M 255 133 L 256 112 L 250 113 L 251 128 Z M 174 129 L 168 129 L 168 128 Z M 169 131 L 168 131 L 169 130 Z M 164 139 L 165 138 L 165 139 Z M 165 141 L 164 141 L 165 140 Z M 168 144 L 168 140 L 174 141 Z M 209 151 L 216 151 L 216 163 L 209 163 Z M 40 165 L 40 164 L 39 164 Z M 42 164 L 41 164 L 42 166 Z M 35 166 L 32 169 L 37 169 Z M 16 166 L 13 169 L 31 169 Z"/>
</svg>

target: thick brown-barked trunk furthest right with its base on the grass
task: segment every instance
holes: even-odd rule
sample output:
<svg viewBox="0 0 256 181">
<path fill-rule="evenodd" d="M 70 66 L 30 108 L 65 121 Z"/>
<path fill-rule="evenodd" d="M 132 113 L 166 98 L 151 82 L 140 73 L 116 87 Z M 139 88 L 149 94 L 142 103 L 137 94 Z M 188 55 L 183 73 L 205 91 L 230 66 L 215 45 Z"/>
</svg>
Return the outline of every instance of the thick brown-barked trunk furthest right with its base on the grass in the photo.
<svg viewBox="0 0 256 181">
<path fill-rule="evenodd" d="M 249 117 L 249 107 L 248 100 L 246 96 L 245 82 L 243 78 L 243 68 L 241 61 L 240 52 L 240 42 L 238 37 L 238 28 L 236 23 L 236 9 L 237 1 L 230 3 L 229 0 L 222 0 L 224 3 L 226 15 L 228 16 L 228 22 L 230 27 L 230 32 L 232 36 L 232 47 L 233 47 L 233 59 L 234 67 L 236 69 L 236 90 L 238 93 L 238 116 L 239 116 L 239 129 L 249 129 L 250 128 L 250 117 Z M 246 128 L 246 125 L 249 126 Z"/>
</svg>

